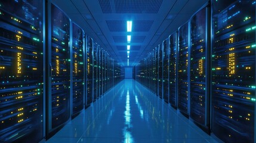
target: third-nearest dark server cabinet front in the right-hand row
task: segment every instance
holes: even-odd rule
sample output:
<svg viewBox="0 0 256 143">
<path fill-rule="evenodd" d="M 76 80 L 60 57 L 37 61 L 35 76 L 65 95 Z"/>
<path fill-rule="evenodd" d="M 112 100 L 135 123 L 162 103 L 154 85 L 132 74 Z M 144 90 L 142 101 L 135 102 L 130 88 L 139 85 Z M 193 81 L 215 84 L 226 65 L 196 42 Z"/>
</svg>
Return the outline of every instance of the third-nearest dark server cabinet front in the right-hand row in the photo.
<svg viewBox="0 0 256 143">
<path fill-rule="evenodd" d="M 187 114 L 189 46 L 188 23 L 178 29 L 178 108 Z"/>
</svg>

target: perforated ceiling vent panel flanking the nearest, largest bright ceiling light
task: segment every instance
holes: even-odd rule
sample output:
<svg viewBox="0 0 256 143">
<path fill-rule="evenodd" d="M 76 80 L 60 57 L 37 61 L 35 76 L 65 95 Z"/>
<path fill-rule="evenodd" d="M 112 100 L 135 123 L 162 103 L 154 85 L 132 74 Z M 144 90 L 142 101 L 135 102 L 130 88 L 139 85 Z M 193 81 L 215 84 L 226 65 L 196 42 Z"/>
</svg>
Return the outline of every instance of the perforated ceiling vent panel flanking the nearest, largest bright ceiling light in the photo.
<svg viewBox="0 0 256 143">
<path fill-rule="evenodd" d="M 153 20 L 134 20 L 132 21 L 132 32 L 149 32 Z M 125 20 L 106 20 L 110 32 L 126 32 L 127 21 Z"/>
</svg>

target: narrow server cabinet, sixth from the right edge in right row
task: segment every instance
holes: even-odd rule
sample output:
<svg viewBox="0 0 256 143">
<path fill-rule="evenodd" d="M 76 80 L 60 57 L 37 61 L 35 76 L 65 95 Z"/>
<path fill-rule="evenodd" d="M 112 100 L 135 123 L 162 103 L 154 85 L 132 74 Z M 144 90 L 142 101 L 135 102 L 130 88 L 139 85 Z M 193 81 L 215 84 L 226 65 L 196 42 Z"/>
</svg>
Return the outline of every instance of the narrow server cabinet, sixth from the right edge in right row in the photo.
<svg viewBox="0 0 256 143">
<path fill-rule="evenodd" d="M 162 44 L 158 45 L 158 96 L 163 98 L 163 47 Z"/>
</svg>

